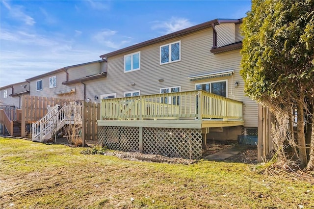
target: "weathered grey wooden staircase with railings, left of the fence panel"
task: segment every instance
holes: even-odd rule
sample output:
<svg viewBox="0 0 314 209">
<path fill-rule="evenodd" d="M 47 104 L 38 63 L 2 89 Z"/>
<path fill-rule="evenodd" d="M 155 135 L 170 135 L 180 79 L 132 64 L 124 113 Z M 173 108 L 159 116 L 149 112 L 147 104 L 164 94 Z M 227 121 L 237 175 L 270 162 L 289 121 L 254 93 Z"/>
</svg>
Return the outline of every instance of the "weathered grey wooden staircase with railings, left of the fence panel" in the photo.
<svg viewBox="0 0 314 209">
<path fill-rule="evenodd" d="M 56 105 L 49 110 L 43 118 L 32 124 L 32 141 L 44 142 L 65 124 L 73 124 L 74 121 L 81 122 L 81 105 Z"/>
</svg>

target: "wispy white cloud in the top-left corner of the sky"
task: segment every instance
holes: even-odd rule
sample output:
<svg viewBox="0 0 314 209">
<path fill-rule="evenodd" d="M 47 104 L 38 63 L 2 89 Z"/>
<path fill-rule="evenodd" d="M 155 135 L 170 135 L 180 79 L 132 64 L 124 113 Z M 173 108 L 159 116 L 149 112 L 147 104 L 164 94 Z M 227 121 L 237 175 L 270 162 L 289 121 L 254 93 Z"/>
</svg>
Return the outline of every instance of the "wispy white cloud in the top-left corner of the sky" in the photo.
<svg viewBox="0 0 314 209">
<path fill-rule="evenodd" d="M 33 26 L 36 23 L 34 18 L 30 17 L 23 11 L 23 6 L 11 6 L 6 1 L 1 2 L 9 10 L 9 15 L 15 20 L 24 22 L 28 26 Z"/>
</svg>

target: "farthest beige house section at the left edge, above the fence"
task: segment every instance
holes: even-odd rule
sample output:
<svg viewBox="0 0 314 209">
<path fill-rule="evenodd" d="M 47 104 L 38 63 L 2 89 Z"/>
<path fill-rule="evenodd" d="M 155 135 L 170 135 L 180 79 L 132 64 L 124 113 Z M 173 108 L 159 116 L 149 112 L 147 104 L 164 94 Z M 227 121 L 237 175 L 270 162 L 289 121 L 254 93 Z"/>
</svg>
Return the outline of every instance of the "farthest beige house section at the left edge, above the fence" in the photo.
<svg viewBox="0 0 314 209">
<path fill-rule="evenodd" d="M 21 108 L 21 96 L 29 94 L 29 83 L 19 82 L 0 87 L 0 106 Z"/>
</svg>

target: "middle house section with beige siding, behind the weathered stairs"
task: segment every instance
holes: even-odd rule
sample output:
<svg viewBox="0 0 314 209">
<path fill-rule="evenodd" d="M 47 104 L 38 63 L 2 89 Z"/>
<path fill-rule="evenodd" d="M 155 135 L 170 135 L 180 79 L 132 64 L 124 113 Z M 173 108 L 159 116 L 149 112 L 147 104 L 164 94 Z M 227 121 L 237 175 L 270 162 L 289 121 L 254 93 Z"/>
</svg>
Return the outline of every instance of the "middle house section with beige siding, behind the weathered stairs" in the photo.
<svg viewBox="0 0 314 209">
<path fill-rule="evenodd" d="M 26 79 L 30 95 L 85 100 L 85 80 L 106 76 L 104 60 L 72 65 Z"/>
</svg>

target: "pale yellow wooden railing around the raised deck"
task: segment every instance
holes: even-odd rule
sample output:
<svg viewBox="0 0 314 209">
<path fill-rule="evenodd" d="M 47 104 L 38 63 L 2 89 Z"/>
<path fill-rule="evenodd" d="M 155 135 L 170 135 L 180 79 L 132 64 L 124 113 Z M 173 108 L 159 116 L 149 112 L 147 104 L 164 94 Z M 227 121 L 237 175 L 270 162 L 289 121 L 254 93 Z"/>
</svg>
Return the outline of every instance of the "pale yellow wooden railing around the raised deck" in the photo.
<svg viewBox="0 0 314 209">
<path fill-rule="evenodd" d="M 104 99 L 101 120 L 242 120 L 242 102 L 206 91 L 186 91 Z"/>
</svg>

